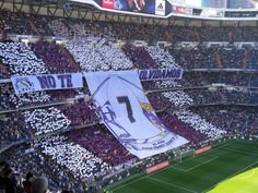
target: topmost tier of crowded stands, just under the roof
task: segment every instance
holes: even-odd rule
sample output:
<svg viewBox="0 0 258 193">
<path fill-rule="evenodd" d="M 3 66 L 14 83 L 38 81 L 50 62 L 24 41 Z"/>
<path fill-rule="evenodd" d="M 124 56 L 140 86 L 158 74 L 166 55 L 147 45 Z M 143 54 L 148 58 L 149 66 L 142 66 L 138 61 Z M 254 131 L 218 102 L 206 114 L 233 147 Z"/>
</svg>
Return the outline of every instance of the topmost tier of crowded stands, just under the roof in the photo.
<svg viewBox="0 0 258 193">
<path fill-rule="evenodd" d="M 40 20 L 38 20 L 40 19 Z M 106 37 L 120 40 L 256 41 L 256 26 L 165 26 L 140 23 L 96 22 L 0 12 L 1 28 L 9 34 Z"/>
</svg>

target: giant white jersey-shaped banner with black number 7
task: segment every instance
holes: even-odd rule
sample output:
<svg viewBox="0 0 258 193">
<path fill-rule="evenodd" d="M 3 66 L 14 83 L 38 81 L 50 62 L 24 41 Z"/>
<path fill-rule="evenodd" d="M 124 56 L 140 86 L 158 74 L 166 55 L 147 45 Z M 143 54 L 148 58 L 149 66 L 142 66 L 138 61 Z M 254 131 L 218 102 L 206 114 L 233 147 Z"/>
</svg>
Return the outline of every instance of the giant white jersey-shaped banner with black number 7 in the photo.
<svg viewBox="0 0 258 193">
<path fill-rule="evenodd" d="M 139 158 L 188 143 L 169 132 L 145 97 L 137 71 L 85 73 L 104 124 Z"/>
</svg>

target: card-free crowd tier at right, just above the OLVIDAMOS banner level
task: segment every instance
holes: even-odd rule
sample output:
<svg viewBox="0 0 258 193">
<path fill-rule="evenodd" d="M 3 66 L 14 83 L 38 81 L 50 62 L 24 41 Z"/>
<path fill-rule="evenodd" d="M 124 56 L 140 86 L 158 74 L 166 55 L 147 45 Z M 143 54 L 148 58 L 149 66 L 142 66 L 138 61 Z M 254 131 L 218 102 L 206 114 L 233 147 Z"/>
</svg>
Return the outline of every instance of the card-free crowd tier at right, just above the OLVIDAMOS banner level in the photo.
<svg viewBox="0 0 258 193">
<path fill-rule="evenodd" d="M 168 49 L 184 69 L 257 69 L 256 48 L 196 47 Z"/>
</svg>

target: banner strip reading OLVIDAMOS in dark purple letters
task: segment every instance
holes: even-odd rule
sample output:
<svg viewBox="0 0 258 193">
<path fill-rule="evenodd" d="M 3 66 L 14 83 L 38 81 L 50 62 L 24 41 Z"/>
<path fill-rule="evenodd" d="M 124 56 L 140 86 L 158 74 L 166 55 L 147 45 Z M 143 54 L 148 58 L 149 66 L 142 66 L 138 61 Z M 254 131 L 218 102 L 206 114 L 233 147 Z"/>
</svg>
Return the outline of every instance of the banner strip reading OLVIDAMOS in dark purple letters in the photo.
<svg viewBox="0 0 258 193">
<path fill-rule="evenodd" d="M 183 76 L 181 69 L 139 70 L 138 73 L 141 81 L 180 80 Z"/>
</svg>

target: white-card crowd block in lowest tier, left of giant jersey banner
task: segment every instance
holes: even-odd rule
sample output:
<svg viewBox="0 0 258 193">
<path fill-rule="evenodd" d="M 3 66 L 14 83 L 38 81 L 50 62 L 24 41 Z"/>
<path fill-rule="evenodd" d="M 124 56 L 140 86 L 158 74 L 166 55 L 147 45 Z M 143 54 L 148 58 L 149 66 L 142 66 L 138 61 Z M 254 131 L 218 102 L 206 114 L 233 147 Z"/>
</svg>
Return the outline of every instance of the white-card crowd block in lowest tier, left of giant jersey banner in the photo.
<svg viewBox="0 0 258 193">
<path fill-rule="evenodd" d="M 109 168 L 108 164 L 94 156 L 87 149 L 67 141 L 63 135 L 55 135 L 40 140 L 37 147 L 50 156 L 58 165 L 67 167 L 75 178 L 87 179 Z"/>
</svg>

